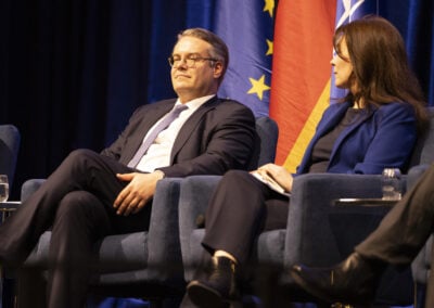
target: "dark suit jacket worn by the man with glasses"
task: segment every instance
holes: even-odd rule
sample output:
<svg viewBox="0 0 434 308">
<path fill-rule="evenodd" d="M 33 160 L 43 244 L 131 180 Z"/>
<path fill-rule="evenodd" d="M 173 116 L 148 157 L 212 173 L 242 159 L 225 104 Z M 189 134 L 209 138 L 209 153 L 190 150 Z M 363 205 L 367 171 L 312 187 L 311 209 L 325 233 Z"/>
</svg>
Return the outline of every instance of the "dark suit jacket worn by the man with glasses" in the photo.
<svg viewBox="0 0 434 308">
<path fill-rule="evenodd" d="M 150 128 L 176 99 L 139 107 L 117 140 L 102 151 L 127 165 Z M 170 166 L 159 168 L 167 177 L 222 175 L 255 164 L 258 137 L 252 111 L 232 100 L 212 98 L 180 129 L 170 154 Z"/>
</svg>

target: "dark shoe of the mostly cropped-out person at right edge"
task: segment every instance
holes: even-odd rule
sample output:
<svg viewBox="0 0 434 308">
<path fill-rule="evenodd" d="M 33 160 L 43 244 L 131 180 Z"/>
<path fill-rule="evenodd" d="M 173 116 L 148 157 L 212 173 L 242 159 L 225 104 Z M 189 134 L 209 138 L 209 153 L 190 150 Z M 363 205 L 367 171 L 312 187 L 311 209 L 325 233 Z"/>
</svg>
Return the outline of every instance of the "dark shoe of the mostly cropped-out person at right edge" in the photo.
<svg viewBox="0 0 434 308">
<path fill-rule="evenodd" d="M 295 265 L 291 275 L 304 290 L 333 304 L 367 305 L 373 301 L 385 264 L 354 253 L 331 268 L 308 268 Z"/>
</svg>

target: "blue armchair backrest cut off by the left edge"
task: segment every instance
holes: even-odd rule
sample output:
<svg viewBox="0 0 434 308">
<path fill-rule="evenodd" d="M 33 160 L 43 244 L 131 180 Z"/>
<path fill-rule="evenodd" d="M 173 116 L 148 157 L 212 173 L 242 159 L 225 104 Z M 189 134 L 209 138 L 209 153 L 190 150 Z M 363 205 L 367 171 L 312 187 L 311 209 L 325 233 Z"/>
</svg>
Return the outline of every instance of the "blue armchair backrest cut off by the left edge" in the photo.
<svg viewBox="0 0 434 308">
<path fill-rule="evenodd" d="M 0 125 L 0 174 L 8 175 L 10 187 L 15 175 L 20 142 L 21 134 L 15 126 Z"/>
</svg>

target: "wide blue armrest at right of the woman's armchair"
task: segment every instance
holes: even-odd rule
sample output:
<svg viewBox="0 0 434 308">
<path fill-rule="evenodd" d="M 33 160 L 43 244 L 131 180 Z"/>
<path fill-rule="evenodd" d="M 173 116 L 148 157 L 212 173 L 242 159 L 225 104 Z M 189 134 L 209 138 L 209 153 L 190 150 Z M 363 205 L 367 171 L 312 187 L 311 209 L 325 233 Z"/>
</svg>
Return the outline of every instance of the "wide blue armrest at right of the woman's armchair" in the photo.
<svg viewBox="0 0 434 308">
<path fill-rule="evenodd" d="M 336 198 L 382 196 L 381 176 L 310 174 L 294 180 L 288 217 L 284 266 L 297 262 L 312 267 L 337 264 L 376 229 L 386 207 L 333 206 Z M 290 283 L 292 280 L 285 281 Z M 409 305 L 411 271 L 388 268 L 382 275 L 375 303 Z"/>
</svg>

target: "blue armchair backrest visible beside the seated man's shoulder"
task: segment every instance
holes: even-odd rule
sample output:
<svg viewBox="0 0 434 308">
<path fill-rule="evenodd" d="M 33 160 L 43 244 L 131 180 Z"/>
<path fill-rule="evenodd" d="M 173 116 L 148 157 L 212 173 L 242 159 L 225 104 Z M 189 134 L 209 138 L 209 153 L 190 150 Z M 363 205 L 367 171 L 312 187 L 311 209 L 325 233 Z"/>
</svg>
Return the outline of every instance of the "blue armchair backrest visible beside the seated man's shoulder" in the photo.
<svg viewBox="0 0 434 308">
<path fill-rule="evenodd" d="M 257 117 L 256 132 L 260 139 L 257 166 L 259 167 L 267 163 L 275 163 L 276 146 L 279 137 L 279 127 L 277 123 L 268 116 Z"/>
</svg>

